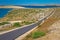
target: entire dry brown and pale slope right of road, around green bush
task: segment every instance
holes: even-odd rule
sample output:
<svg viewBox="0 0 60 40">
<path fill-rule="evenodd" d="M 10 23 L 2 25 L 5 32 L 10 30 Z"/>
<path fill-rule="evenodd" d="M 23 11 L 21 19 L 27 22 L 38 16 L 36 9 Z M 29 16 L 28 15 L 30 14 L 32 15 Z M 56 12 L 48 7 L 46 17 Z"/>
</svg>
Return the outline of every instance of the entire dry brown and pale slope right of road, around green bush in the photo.
<svg viewBox="0 0 60 40">
<path fill-rule="evenodd" d="M 54 15 L 38 26 L 33 32 L 26 36 L 23 40 L 60 40 L 60 8 L 56 8 Z M 34 38 L 35 32 L 44 32 L 45 36 Z M 39 33 L 38 33 L 39 34 Z"/>
</svg>

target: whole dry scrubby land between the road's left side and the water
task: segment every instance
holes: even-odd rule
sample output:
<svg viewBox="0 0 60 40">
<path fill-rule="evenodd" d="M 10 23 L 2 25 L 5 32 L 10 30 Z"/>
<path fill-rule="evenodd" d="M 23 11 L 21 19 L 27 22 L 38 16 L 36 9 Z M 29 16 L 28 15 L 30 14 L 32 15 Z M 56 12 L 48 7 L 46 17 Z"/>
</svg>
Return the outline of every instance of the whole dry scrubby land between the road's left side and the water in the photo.
<svg viewBox="0 0 60 40">
<path fill-rule="evenodd" d="M 49 9 L 49 8 L 45 8 L 45 9 L 42 9 L 42 8 L 39 8 L 39 9 L 38 8 L 36 8 L 36 9 L 15 8 L 12 11 L 8 12 L 8 14 L 5 15 L 5 17 L 0 18 L 0 22 L 2 22 L 2 23 L 0 23 L 0 26 L 5 25 L 8 21 L 12 21 L 12 22 L 18 21 L 18 22 L 14 23 L 11 26 L 3 26 L 2 27 L 3 29 L 0 29 L 0 32 L 34 23 L 34 22 L 38 21 L 38 19 L 43 18 L 42 16 L 48 15 L 48 13 L 51 10 L 52 10 L 52 8 L 51 9 Z M 22 21 L 22 22 L 19 22 L 19 21 Z"/>
</svg>

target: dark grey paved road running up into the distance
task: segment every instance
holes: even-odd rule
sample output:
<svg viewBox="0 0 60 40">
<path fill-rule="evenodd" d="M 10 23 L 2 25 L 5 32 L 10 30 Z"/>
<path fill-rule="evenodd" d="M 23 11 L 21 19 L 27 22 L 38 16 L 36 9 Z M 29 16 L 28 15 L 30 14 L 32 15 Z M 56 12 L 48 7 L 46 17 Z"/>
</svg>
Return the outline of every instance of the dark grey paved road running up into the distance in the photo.
<svg viewBox="0 0 60 40">
<path fill-rule="evenodd" d="M 52 13 L 50 13 L 51 15 Z M 48 16 L 50 16 L 48 15 Z M 46 19 L 48 16 L 46 16 L 45 18 L 43 18 L 42 20 L 38 21 L 35 24 L 29 25 L 27 27 L 21 28 L 21 29 L 17 29 L 8 33 L 5 33 L 3 35 L 0 35 L 0 40 L 14 40 L 15 38 L 21 36 L 22 34 L 26 33 L 27 31 L 33 29 L 34 27 L 38 26 L 44 19 Z"/>
</svg>

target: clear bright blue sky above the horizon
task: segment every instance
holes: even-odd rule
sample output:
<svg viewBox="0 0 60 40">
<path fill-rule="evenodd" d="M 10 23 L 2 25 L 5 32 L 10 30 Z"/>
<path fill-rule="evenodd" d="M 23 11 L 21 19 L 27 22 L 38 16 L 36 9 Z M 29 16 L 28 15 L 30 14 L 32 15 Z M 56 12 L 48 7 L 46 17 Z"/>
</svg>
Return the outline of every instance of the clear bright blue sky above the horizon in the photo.
<svg viewBox="0 0 60 40">
<path fill-rule="evenodd" d="M 0 5 L 60 4 L 60 0 L 0 0 Z"/>
</svg>

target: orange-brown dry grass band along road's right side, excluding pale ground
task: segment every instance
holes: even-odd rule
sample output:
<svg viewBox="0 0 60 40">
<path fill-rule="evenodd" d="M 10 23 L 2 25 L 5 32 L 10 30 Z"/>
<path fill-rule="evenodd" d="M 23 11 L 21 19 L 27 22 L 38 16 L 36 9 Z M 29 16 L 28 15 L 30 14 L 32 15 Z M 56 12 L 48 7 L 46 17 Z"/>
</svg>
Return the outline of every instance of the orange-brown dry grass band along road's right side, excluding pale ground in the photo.
<svg viewBox="0 0 60 40">
<path fill-rule="evenodd" d="M 51 27 L 51 25 L 54 24 L 58 20 L 60 20 L 60 8 L 56 8 L 54 15 L 51 16 L 48 20 L 45 20 L 45 22 L 42 25 L 40 25 L 36 30 L 34 30 L 32 33 L 34 33 L 35 31 L 48 32 L 48 28 Z M 34 40 L 31 37 L 32 33 L 30 33 L 23 40 Z"/>
</svg>

